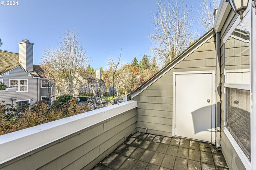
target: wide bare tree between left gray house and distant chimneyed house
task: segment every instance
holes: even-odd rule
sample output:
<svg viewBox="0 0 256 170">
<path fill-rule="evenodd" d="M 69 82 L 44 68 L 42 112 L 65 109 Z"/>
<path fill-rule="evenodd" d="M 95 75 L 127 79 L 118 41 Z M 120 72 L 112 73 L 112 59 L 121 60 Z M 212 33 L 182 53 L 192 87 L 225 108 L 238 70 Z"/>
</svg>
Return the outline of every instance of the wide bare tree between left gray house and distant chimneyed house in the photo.
<svg viewBox="0 0 256 170">
<path fill-rule="evenodd" d="M 88 64 L 88 57 L 78 34 L 74 31 L 66 31 L 60 39 L 58 49 L 45 50 L 44 62 L 50 62 L 62 75 L 66 92 L 73 95 L 78 83 L 75 81 L 76 75 L 78 75 L 79 68 Z"/>
</svg>

